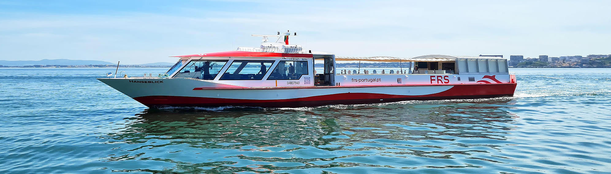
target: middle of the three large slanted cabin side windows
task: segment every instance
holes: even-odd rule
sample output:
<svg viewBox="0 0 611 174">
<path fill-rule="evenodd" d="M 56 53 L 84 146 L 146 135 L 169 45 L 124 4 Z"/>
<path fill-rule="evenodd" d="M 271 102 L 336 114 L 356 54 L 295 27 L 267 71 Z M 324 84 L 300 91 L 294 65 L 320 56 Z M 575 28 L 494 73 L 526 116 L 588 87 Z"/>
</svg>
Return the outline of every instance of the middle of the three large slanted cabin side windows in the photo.
<svg viewBox="0 0 611 174">
<path fill-rule="evenodd" d="M 234 60 L 220 80 L 261 80 L 273 60 Z"/>
</svg>

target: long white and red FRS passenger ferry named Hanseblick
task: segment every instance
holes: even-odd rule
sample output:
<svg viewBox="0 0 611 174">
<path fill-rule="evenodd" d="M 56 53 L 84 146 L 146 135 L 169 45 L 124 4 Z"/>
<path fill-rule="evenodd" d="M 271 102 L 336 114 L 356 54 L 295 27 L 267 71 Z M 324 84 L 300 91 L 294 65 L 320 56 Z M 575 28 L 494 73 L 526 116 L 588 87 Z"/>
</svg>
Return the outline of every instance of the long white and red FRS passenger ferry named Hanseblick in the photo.
<svg viewBox="0 0 611 174">
<path fill-rule="evenodd" d="M 513 96 L 516 76 L 502 57 L 424 55 L 335 57 L 288 44 L 291 33 L 259 47 L 174 56 L 166 74 L 98 78 L 148 106 L 302 107 L 402 100 Z M 277 41 L 269 38 L 277 37 Z M 281 40 L 284 38 L 284 40 Z M 315 70 L 315 61 L 323 65 Z M 336 61 L 399 63 L 399 68 L 336 68 Z"/>
</svg>

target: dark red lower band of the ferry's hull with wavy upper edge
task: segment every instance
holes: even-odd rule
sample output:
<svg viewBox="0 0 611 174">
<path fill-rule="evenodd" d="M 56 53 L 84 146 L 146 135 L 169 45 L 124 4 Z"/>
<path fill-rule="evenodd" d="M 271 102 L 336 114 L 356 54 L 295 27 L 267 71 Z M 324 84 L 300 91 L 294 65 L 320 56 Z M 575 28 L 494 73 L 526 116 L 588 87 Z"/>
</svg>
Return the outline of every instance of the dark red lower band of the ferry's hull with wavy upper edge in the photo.
<svg viewBox="0 0 611 174">
<path fill-rule="evenodd" d="M 147 106 L 262 106 L 262 107 L 301 107 L 332 104 L 358 104 L 396 102 L 402 100 L 439 100 L 439 99 L 477 99 L 486 97 L 513 96 L 515 83 L 503 85 L 454 86 L 446 91 L 422 96 L 403 96 L 376 93 L 341 93 L 324 96 L 302 97 L 296 99 L 219 99 L 210 97 L 181 96 L 144 96 L 134 100 Z"/>
</svg>

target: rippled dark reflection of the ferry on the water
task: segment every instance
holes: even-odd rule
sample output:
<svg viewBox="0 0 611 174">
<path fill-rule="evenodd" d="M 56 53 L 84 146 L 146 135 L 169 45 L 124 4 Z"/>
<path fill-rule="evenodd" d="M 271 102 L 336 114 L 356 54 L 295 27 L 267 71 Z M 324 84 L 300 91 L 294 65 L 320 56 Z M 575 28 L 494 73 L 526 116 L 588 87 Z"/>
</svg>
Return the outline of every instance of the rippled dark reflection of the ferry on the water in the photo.
<svg viewBox="0 0 611 174">
<path fill-rule="evenodd" d="M 141 161 L 134 163 L 137 168 L 116 171 L 153 173 L 478 167 L 435 159 L 499 162 L 491 151 L 499 150 L 511 133 L 516 115 L 507 110 L 513 103 L 511 98 L 497 98 L 292 109 L 145 110 L 126 118 L 129 124 L 124 130 L 106 137 L 108 143 L 120 144 L 106 160 Z M 378 161 L 384 158 L 396 162 Z M 163 164 L 167 162 L 176 167 L 152 165 L 171 165 Z M 324 169 L 317 173 L 320 170 Z"/>
</svg>

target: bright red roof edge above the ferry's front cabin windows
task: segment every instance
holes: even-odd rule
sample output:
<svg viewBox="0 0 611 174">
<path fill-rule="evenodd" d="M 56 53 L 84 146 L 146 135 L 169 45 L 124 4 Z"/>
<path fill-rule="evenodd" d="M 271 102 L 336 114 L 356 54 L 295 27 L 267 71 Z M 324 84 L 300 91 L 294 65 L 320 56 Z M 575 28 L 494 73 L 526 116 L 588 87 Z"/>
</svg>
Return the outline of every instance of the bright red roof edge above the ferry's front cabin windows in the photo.
<svg viewBox="0 0 611 174">
<path fill-rule="evenodd" d="M 177 55 L 171 57 L 305 57 L 312 58 L 312 54 L 293 54 L 293 53 L 277 53 L 277 52 L 248 52 L 230 50 L 224 52 L 211 52 L 205 54 L 190 54 Z"/>
</svg>

